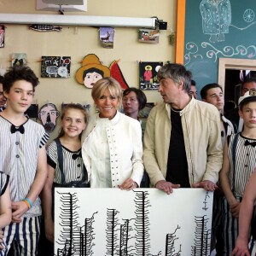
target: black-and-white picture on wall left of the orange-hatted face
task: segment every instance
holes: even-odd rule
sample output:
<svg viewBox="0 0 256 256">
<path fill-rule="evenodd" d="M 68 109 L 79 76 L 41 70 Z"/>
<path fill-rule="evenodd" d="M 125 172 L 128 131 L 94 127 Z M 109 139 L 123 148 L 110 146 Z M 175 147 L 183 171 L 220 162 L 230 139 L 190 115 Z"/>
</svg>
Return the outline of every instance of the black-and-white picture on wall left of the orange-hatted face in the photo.
<svg viewBox="0 0 256 256">
<path fill-rule="evenodd" d="M 42 56 L 41 78 L 70 78 L 70 56 Z"/>
</svg>

